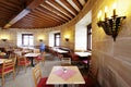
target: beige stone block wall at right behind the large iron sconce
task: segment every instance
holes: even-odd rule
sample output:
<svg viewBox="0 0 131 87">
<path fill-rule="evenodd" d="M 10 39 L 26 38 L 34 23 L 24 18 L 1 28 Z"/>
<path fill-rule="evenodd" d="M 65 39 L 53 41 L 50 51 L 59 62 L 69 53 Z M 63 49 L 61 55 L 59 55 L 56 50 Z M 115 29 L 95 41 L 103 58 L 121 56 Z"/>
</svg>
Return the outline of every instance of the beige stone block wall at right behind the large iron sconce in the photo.
<svg viewBox="0 0 131 87">
<path fill-rule="evenodd" d="M 108 16 L 112 15 L 112 4 L 117 3 L 117 14 L 126 15 L 116 41 L 97 26 L 97 13 L 107 5 Z M 131 87 L 131 2 L 130 0 L 97 0 L 93 8 L 93 65 L 99 67 L 98 79 L 103 87 Z"/>
</svg>

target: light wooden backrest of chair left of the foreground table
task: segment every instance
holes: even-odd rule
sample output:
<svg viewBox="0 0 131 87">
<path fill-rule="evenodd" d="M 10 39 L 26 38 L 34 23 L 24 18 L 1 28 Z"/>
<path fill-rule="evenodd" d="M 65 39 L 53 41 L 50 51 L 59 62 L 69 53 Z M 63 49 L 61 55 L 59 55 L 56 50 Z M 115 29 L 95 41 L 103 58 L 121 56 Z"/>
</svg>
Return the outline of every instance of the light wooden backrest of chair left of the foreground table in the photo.
<svg viewBox="0 0 131 87">
<path fill-rule="evenodd" d="M 35 65 L 35 67 L 33 67 L 33 77 L 35 80 L 35 87 L 37 87 L 37 84 L 41 78 L 41 71 L 40 71 L 40 67 L 38 65 Z"/>
</svg>

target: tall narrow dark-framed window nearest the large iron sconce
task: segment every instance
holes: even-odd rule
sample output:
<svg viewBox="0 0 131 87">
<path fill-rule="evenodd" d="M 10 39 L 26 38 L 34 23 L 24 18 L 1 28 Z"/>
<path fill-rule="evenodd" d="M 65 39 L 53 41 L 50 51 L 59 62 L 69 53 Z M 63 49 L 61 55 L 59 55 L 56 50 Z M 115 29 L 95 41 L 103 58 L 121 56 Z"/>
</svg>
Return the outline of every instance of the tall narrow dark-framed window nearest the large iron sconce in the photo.
<svg viewBox="0 0 131 87">
<path fill-rule="evenodd" d="M 87 25 L 87 50 L 92 50 L 92 24 Z"/>
</svg>

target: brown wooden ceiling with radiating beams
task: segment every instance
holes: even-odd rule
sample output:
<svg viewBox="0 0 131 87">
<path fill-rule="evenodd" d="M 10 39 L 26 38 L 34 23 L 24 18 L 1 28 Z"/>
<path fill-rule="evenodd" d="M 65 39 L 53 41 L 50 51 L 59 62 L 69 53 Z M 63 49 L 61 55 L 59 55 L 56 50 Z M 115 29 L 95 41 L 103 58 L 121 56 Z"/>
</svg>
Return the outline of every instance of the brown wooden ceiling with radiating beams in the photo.
<svg viewBox="0 0 131 87">
<path fill-rule="evenodd" d="M 73 20 L 87 0 L 0 0 L 0 27 L 49 28 Z"/>
</svg>

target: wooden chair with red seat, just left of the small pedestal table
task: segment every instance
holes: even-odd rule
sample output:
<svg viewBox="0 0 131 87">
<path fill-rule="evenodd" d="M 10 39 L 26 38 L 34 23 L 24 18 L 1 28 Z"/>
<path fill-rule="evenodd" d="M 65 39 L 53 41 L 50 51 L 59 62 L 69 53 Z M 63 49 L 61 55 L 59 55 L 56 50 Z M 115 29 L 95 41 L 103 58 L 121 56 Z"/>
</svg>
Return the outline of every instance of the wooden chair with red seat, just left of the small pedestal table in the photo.
<svg viewBox="0 0 131 87">
<path fill-rule="evenodd" d="M 25 72 L 26 72 L 26 67 L 28 65 L 31 65 L 31 61 L 28 59 L 26 59 L 26 57 L 23 57 L 23 55 L 17 57 L 17 66 L 19 66 L 17 72 L 20 72 L 20 66 L 23 66 L 25 69 Z"/>
</svg>

